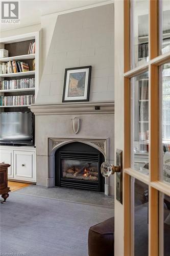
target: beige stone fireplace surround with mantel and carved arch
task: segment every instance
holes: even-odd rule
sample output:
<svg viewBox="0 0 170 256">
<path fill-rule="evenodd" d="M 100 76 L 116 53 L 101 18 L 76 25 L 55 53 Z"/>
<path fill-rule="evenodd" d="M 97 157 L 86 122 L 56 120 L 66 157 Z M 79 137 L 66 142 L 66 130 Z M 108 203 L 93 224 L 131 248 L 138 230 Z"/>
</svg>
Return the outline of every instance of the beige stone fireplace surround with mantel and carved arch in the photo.
<svg viewBox="0 0 170 256">
<path fill-rule="evenodd" d="M 114 102 L 34 104 L 37 185 L 55 186 L 55 153 L 60 147 L 81 142 L 114 164 Z M 72 119 L 80 119 L 74 133 Z M 114 175 L 105 179 L 105 194 L 114 195 Z"/>
</svg>

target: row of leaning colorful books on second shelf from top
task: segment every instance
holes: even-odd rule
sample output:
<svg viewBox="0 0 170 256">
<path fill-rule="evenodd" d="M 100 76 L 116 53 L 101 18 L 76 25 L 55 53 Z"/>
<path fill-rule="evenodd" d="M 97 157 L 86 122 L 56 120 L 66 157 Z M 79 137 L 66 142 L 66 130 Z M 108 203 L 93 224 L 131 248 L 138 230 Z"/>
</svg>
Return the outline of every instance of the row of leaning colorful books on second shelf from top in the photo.
<svg viewBox="0 0 170 256">
<path fill-rule="evenodd" d="M 29 71 L 29 65 L 23 61 L 10 60 L 6 63 L 0 64 L 0 74 L 11 74 L 26 71 Z"/>
</svg>

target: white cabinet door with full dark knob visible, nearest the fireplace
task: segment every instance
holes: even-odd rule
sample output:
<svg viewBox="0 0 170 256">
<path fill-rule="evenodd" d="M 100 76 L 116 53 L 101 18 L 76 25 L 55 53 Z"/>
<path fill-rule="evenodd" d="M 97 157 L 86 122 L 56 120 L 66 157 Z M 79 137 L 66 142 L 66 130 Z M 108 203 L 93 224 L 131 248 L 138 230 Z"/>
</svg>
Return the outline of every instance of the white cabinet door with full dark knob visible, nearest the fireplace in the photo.
<svg viewBox="0 0 170 256">
<path fill-rule="evenodd" d="M 35 181 L 35 153 L 14 151 L 14 178 Z"/>
</svg>

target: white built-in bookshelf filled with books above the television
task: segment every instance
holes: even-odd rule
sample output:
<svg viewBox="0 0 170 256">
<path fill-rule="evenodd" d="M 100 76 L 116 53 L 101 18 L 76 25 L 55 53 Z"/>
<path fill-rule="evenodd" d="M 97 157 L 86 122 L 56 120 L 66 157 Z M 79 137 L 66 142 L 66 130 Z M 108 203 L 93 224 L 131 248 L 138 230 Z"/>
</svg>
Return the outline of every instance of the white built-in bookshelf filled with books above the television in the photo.
<svg viewBox="0 0 170 256">
<path fill-rule="evenodd" d="M 9 52 L 0 58 L 1 112 L 30 111 L 38 92 L 40 31 L 1 38 L 0 48 Z"/>
</svg>

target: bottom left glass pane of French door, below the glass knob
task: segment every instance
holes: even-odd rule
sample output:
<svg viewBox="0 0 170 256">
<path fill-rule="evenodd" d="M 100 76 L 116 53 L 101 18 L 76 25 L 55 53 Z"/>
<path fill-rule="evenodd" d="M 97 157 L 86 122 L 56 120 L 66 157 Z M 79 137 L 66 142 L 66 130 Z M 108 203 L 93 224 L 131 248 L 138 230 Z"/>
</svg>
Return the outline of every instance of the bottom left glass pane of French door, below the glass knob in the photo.
<svg viewBox="0 0 170 256">
<path fill-rule="evenodd" d="M 135 179 L 134 255 L 148 255 L 148 185 Z"/>
</svg>

